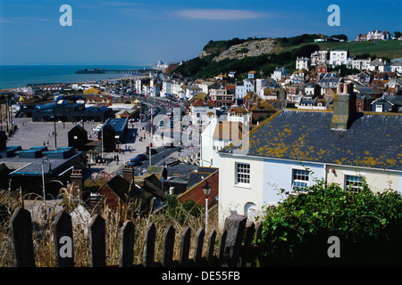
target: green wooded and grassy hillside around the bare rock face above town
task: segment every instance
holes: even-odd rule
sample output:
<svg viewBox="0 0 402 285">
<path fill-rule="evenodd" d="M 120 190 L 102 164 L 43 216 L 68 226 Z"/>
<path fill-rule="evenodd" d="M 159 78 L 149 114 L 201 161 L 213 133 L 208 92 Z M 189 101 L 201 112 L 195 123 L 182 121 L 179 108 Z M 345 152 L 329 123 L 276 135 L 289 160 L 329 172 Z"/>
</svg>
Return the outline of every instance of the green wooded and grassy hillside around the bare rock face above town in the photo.
<svg viewBox="0 0 402 285">
<path fill-rule="evenodd" d="M 324 49 L 348 49 L 349 54 L 360 58 L 371 56 L 373 58 L 395 59 L 402 57 L 402 43 L 397 40 L 314 43 L 314 39 L 318 37 L 322 36 L 305 34 L 297 37 L 279 37 L 276 38 L 278 42 L 276 53 L 246 57 L 241 60 L 226 59 L 219 62 L 213 61 L 214 57 L 229 49 L 231 45 L 239 45 L 258 39 L 249 37 L 247 39 L 233 38 L 227 41 L 210 41 L 203 49 L 209 55 L 186 61 L 175 72 L 184 77 L 209 78 L 230 71 L 237 71 L 240 77 L 245 77 L 248 71 L 255 70 L 259 76 L 269 77 L 278 66 L 284 66 L 289 72 L 292 72 L 295 70 L 297 57 L 310 57 L 314 51 Z"/>
</svg>

